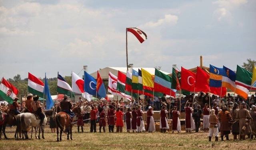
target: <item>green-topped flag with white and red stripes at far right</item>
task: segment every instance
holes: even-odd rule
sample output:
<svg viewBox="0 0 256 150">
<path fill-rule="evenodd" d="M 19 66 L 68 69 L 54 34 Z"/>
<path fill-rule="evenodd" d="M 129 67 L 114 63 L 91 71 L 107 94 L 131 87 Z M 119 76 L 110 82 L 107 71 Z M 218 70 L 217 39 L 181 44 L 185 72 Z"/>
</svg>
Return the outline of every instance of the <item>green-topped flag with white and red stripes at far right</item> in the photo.
<svg viewBox="0 0 256 150">
<path fill-rule="evenodd" d="M 236 67 L 236 85 L 243 86 L 247 89 L 251 89 L 252 84 L 252 72 L 245 70 L 237 65 Z M 252 90 L 256 90 L 256 86 L 252 86 Z"/>
</svg>

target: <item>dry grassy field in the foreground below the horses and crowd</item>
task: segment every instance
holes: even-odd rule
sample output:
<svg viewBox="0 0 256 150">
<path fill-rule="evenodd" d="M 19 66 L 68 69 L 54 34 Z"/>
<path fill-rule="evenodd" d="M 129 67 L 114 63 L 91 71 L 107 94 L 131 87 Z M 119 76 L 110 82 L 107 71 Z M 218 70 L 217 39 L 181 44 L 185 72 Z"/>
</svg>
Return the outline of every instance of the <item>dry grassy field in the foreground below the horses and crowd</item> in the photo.
<svg viewBox="0 0 256 150">
<path fill-rule="evenodd" d="M 46 126 L 44 140 L 15 140 L 15 128 L 6 128 L 10 139 L 0 140 L 0 150 L 256 150 L 256 140 L 233 141 L 230 137 L 230 141 L 208 142 L 208 133 L 204 132 L 99 133 L 97 126 L 97 133 L 90 133 L 87 124 L 85 133 L 78 133 L 74 126 L 73 140 L 66 140 L 66 135 L 62 134 L 62 142 L 56 142 L 57 135 L 51 133 L 49 126 Z"/>
</svg>

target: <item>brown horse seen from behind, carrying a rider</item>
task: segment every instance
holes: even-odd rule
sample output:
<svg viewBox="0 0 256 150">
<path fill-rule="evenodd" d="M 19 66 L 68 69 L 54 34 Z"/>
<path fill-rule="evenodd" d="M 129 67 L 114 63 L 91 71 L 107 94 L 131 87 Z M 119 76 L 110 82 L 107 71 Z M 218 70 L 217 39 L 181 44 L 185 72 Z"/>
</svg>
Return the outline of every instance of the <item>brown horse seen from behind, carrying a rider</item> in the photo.
<svg viewBox="0 0 256 150">
<path fill-rule="evenodd" d="M 84 110 L 84 106 L 78 105 L 78 106 L 74 106 L 72 107 L 72 111 L 75 114 L 82 114 Z M 72 122 L 74 121 L 74 117 L 70 118 L 70 116 L 66 113 L 66 112 L 59 112 L 56 115 L 56 128 L 57 128 L 57 142 L 62 141 L 62 132 L 64 132 L 65 134 L 67 134 L 67 140 L 69 140 L 69 134 L 70 134 L 70 139 L 72 139 L 72 127 L 73 124 Z M 65 130 L 64 130 L 64 126 L 65 126 Z M 60 139 L 59 139 L 59 128 L 60 128 Z M 67 132 L 67 133 L 66 133 Z"/>
</svg>

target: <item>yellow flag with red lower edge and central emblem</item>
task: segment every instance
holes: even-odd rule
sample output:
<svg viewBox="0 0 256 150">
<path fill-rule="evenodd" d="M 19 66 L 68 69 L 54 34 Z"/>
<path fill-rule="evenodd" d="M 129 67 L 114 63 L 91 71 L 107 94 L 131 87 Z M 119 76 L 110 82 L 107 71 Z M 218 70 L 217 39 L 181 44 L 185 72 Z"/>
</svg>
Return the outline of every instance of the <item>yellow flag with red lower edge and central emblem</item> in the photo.
<svg viewBox="0 0 256 150">
<path fill-rule="evenodd" d="M 155 76 L 141 68 L 142 85 L 145 90 L 154 90 L 154 78 Z"/>
</svg>

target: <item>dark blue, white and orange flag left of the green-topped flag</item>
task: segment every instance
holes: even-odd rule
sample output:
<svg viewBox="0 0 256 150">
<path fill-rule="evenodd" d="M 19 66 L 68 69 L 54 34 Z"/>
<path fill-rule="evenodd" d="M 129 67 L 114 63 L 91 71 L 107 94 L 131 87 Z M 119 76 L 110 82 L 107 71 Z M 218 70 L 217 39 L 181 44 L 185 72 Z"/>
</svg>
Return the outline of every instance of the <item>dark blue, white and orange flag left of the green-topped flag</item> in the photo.
<svg viewBox="0 0 256 150">
<path fill-rule="evenodd" d="M 247 88 L 244 88 L 243 86 L 235 84 L 236 73 L 229 68 L 226 68 L 225 66 L 223 66 L 222 73 L 222 86 L 229 88 L 233 92 L 236 92 L 236 94 L 239 94 L 243 98 L 247 99 L 249 90 Z"/>
</svg>

